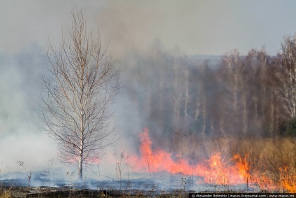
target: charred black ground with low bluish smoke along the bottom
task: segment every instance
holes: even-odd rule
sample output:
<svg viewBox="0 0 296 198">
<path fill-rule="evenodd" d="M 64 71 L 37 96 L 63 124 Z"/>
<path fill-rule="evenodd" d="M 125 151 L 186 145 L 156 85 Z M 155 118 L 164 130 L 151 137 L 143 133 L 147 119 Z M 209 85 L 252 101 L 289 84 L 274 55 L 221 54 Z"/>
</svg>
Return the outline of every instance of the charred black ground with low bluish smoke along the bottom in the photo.
<svg viewBox="0 0 296 198">
<path fill-rule="evenodd" d="M 200 178 L 158 176 L 154 180 L 59 181 L 33 177 L 0 179 L 0 198 L 4 197 L 188 197 L 190 192 L 260 192 L 248 185 L 197 184 Z M 121 189 L 121 190 L 119 190 Z"/>
</svg>

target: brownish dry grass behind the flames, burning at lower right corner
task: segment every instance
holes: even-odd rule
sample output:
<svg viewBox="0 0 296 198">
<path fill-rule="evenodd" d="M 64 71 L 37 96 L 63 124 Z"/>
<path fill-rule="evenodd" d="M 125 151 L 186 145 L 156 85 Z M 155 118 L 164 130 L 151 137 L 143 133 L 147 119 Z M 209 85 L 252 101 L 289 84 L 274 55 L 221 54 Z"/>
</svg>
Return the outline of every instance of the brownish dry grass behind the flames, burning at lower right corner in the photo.
<svg viewBox="0 0 296 198">
<path fill-rule="evenodd" d="M 228 163 L 238 154 L 249 166 L 249 183 L 253 181 L 269 192 L 296 192 L 296 137 L 203 137 L 175 133 L 172 142 L 168 152 L 191 164 L 202 164 L 215 153 L 221 153 Z"/>
</svg>

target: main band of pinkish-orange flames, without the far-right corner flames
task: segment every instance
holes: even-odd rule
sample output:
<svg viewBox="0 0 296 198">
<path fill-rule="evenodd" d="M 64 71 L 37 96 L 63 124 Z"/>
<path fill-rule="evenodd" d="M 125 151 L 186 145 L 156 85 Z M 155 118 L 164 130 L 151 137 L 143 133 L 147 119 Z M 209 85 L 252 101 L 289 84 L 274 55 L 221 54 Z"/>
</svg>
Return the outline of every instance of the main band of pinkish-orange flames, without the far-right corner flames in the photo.
<svg viewBox="0 0 296 198">
<path fill-rule="evenodd" d="M 165 150 L 152 150 L 149 130 L 140 134 L 140 157 L 132 156 L 131 161 L 136 164 L 135 170 L 160 172 L 171 174 L 182 173 L 188 176 L 200 176 L 205 183 L 240 184 L 246 183 L 249 178 L 249 166 L 246 158 L 235 155 L 232 159 L 223 159 L 221 153 L 215 153 L 202 164 L 190 164 L 188 160 L 173 160 L 171 153 Z"/>
</svg>

